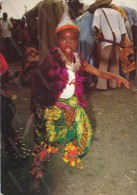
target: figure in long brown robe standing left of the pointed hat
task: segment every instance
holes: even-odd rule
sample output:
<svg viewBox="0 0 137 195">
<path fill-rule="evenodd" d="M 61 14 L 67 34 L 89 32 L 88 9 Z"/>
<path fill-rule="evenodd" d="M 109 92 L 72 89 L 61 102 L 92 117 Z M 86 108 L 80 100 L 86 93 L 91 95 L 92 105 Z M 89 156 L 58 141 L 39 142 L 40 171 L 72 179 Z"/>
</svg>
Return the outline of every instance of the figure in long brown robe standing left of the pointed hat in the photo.
<svg viewBox="0 0 137 195">
<path fill-rule="evenodd" d="M 38 29 L 36 39 L 39 42 L 40 61 L 45 57 L 50 47 L 57 45 L 54 31 L 62 14 L 63 3 L 60 0 L 40 1 L 33 9 L 25 13 L 28 29 Z M 31 34 L 30 32 L 30 37 Z"/>
</svg>

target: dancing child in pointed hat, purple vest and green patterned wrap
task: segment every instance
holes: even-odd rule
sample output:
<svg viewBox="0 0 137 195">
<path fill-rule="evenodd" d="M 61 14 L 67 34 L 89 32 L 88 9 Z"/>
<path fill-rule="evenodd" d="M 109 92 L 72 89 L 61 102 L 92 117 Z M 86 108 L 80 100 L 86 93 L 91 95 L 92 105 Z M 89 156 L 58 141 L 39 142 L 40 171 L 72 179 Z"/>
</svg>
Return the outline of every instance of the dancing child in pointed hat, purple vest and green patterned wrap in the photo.
<svg viewBox="0 0 137 195">
<path fill-rule="evenodd" d="M 65 4 L 65 12 L 55 35 L 58 47 L 51 48 L 43 62 L 32 74 L 31 112 L 34 113 L 34 150 L 30 190 L 40 193 L 41 180 L 52 154 L 59 143 L 65 143 L 62 159 L 72 167 L 79 167 L 92 139 L 92 128 L 84 111 L 84 73 L 105 79 L 115 79 L 129 88 L 129 82 L 117 74 L 103 72 L 88 64 L 75 52 L 80 29 L 72 21 Z"/>
</svg>

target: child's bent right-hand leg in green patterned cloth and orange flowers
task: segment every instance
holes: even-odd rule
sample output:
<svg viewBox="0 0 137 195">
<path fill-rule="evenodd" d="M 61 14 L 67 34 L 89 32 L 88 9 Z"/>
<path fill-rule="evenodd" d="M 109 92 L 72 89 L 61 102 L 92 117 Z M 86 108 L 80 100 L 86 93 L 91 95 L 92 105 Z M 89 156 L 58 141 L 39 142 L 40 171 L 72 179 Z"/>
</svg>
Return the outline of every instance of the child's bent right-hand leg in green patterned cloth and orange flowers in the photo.
<svg viewBox="0 0 137 195">
<path fill-rule="evenodd" d="M 92 138 L 88 117 L 80 106 L 76 109 L 75 121 L 70 131 L 75 132 L 75 138 L 66 144 L 63 160 L 70 166 L 77 166 L 81 162 L 81 158 L 86 155 Z"/>
</svg>

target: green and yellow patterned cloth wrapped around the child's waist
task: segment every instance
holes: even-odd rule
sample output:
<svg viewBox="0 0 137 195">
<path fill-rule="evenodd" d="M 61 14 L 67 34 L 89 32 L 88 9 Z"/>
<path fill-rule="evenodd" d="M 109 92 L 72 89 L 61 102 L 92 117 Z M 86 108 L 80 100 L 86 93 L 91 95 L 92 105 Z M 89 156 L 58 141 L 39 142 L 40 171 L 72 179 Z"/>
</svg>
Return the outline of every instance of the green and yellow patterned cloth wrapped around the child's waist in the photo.
<svg viewBox="0 0 137 195">
<path fill-rule="evenodd" d="M 88 117 L 75 95 L 68 99 L 60 98 L 50 108 L 37 109 L 35 131 L 39 137 L 37 140 L 48 143 L 69 142 L 76 138 L 80 153 L 87 151 L 92 137 Z"/>
</svg>

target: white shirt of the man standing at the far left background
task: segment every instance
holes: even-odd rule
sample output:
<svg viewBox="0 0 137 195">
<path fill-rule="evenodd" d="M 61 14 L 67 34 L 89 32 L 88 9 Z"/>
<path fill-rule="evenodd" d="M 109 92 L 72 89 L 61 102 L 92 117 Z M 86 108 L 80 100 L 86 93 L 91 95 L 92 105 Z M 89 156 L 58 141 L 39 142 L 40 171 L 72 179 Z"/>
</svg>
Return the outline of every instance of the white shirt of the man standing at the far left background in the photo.
<svg viewBox="0 0 137 195">
<path fill-rule="evenodd" d="M 1 20 L 0 21 L 1 29 L 2 29 L 2 38 L 11 37 L 11 31 L 10 28 L 12 28 L 12 23 L 9 19 L 6 21 Z"/>
</svg>

